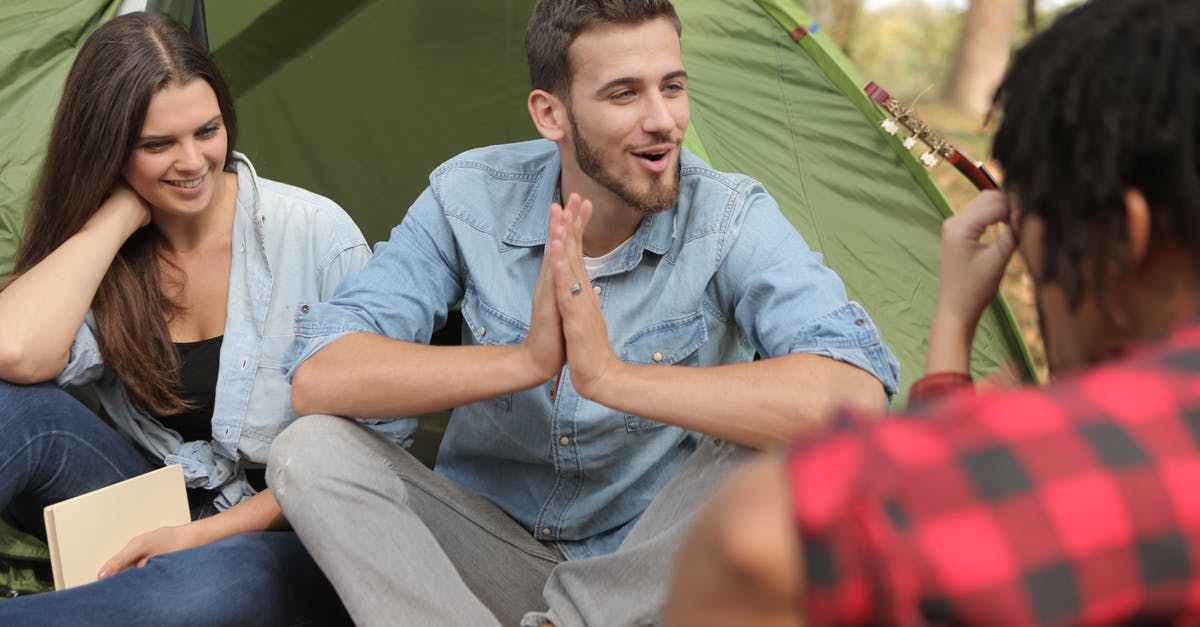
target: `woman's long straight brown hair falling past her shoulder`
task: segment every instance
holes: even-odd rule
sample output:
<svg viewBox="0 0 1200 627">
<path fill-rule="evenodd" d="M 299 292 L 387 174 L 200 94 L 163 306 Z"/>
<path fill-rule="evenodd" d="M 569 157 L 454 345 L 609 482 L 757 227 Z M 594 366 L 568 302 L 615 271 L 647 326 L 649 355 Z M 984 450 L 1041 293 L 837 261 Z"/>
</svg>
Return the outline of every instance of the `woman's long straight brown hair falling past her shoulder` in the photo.
<svg viewBox="0 0 1200 627">
<path fill-rule="evenodd" d="M 233 96 L 216 62 L 187 30 L 167 16 L 130 13 L 88 37 L 59 102 L 13 276 L 44 259 L 96 213 L 120 180 L 150 98 L 194 79 L 216 92 L 230 169 L 238 137 Z M 132 401 L 155 416 L 185 407 L 175 392 L 179 357 L 167 328 L 178 305 L 160 286 L 162 246 L 152 226 L 137 231 L 116 253 L 91 303 L 106 366 Z"/>
</svg>

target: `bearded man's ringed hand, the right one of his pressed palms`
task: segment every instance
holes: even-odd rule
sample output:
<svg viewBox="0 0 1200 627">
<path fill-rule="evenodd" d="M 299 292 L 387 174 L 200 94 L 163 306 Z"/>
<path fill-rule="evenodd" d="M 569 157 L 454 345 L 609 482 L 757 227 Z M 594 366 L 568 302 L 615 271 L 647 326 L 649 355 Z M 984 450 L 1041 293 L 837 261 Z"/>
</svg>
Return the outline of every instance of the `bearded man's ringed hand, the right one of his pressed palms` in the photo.
<svg viewBox="0 0 1200 627">
<path fill-rule="evenodd" d="M 590 219 L 592 202 L 572 193 L 562 219 L 552 221 L 550 257 L 571 383 L 583 398 L 594 400 L 598 387 L 620 359 L 608 342 L 600 298 L 592 291 L 583 265 L 583 231 Z"/>
</svg>

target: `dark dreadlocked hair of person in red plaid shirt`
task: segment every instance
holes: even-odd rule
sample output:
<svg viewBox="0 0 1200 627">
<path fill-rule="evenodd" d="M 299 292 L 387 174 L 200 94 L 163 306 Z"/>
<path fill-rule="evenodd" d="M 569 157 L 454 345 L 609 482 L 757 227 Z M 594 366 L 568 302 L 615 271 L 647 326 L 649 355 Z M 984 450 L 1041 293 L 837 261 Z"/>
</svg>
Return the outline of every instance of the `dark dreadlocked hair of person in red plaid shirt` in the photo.
<svg viewBox="0 0 1200 627">
<path fill-rule="evenodd" d="M 1045 222 L 1042 280 L 1073 307 L 1085 275 L 1104 303 L 1106 264 L 1128 268 L 1127 190 L 1151 207 L 1152 246 L 1200 251 L 1198 34 L 1200 2 L 1091 0 L 1025 46 L 996 91 L 1004 187 Z"/>
</svg>

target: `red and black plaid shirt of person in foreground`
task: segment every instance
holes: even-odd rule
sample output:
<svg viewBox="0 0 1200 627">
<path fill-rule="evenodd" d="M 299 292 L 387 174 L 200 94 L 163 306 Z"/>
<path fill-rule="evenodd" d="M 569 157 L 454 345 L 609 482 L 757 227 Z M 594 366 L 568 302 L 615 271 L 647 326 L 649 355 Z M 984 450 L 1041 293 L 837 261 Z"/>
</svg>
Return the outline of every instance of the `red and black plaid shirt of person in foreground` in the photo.
<svg viewBox="0 0 1200 627">
<path fill-rule="evenodd" d="M 1200 625 L 1200 324 L 787 462 L 814 625 Z"/>
</svg>

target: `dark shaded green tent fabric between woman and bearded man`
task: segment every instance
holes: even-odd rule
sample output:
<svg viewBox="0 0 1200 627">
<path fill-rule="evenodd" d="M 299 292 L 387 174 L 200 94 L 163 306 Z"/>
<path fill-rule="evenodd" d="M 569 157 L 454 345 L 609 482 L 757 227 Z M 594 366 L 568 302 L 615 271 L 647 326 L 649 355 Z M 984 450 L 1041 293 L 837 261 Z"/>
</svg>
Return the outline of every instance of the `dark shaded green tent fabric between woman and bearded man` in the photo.
<svg viewBox="0 0 1200 627">
<path fill-rule="evenodd" d="M 209 38 L 258 171 L 334 198 L 367 240 L 386 239 L 440 162 L 535 137 L 532 2 L 316 5 L 209 2 Z"/>
</svg>

